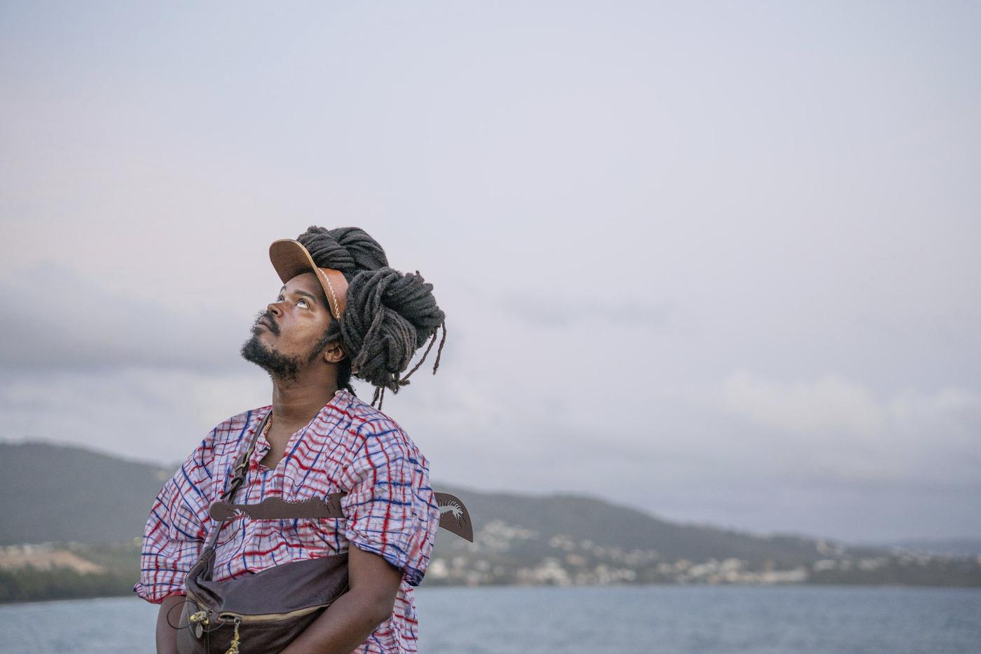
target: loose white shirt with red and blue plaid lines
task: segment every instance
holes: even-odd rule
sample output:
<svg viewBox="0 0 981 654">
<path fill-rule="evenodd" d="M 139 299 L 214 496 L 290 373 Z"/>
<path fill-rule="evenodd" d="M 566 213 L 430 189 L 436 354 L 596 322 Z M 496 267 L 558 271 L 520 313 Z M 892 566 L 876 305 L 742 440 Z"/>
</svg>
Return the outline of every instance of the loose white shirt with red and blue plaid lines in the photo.
<svg viewBox="0 0 981 654">
<path fill-rule="evenodd" d="M 228 488 L 235 457 L 271 409 L 247 410 L 215 427 L 164 484 L 143 531 L 133 586 L 139 597 L 159 604 L 185 594 L 184 576 L 212 527 L 211 503 Z M 429 462 L 394 420 L 345 390 L 293 434 L 274 469 L 260 463 L 270 447 L 260 434 L 234 503 L 346 492 L 340 504 L 347 518 L 231 518 L 216 543 L 214 579 L 340 554 L 353 543 L 403 571 L 391 616 L 354 652 L 418 651 L 413 586 L 423 580 L 439 528 Z"/>
</svg>

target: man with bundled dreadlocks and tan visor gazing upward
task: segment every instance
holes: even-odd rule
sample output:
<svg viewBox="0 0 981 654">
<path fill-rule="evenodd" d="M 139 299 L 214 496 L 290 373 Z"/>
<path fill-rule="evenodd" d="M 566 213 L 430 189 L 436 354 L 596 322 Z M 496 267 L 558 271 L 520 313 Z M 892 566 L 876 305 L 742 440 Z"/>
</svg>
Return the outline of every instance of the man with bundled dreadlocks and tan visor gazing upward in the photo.
<svg viewBox="0 0 981 654">
<path fill-rule="evenodd" d="M 443 326 L 445 338 L 443 314 L 432 285 L 418 273 L 401 276 L 388 268 L 384 250 L 363 231 L 311 227 L 299 239 L 271 246 L 285 284 L 241 348 L 246 360 L 269 373 L 272 405 L 217 425 L 151 508 L 133 590 L 161 605 L 158 652 L 177 651 L 177 605 L 184 600 L 184 576 L 212 526 L 209 507 L 270 410 L 235 502 L 298 502 L 346 492 L 346 519 L 232 518 L 218 536 L 215 580 L 346 551 L 350 589 L 284 654 L 418 649 L 413 586 L 422 581 L 439 527 L 429 462 L 381 404 L 375 409 L 362 402 L 348 380 L 354 372 L 397 392 L 408 383 L 398 375 L 412 352 L 430 333 L 435 339 L 434 325 Z M 332 260 L 336 268 L 323 265 Z M 355 319 L 366 314 L 374 318 Z M 398 344 L 409 352 L 398 351 Z"/>
</svg>

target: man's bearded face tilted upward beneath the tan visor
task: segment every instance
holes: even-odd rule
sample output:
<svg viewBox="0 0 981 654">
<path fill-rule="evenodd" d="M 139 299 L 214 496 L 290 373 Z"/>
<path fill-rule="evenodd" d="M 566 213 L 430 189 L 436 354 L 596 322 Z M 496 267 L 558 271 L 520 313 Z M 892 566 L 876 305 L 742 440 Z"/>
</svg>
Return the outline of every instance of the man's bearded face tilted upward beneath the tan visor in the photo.
<svg viewBox="0 0 981 654">
<path fill-rule="evenodd" d="M 317 276 L 312 271 L 297 275 L 260 311 L 241 355 L 274 377 L 295 380 L 323 352 L 330 324 L 331 311 Z"/>
</svg>

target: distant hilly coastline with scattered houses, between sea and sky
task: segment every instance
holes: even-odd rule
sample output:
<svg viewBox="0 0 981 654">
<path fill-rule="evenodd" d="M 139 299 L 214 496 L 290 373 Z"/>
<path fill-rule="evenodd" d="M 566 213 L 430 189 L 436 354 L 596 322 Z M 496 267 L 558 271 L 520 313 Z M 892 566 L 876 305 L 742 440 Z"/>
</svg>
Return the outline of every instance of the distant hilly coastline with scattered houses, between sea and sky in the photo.
<svg viewBox="0 0 981 654">
<path fill-rule="evenodd" d="M 162 467 L 36 442 L 0 443 L 0 461 L 6 470 L 0 477 L 0 545 L 8 546 L 0 547 L 0 602 L 129 592 L 150 506 L 180 463 Z M 672 522 L 585 495 L 491 493 L 432 481 L 466 504 L 475 542 L 440 529 L 426 573 L 430 585 L 981 586 L 981 556 L 761 535 Z M 19 543 L 47 545 L 11 547 Z M 85 575 L 77 566 L 32 571 L 23 567 L 31 557 L 42 564 L 75 557 L 106 572 Z"/>
</svg>

